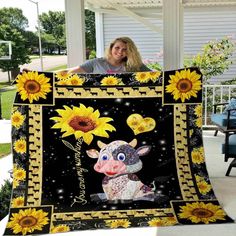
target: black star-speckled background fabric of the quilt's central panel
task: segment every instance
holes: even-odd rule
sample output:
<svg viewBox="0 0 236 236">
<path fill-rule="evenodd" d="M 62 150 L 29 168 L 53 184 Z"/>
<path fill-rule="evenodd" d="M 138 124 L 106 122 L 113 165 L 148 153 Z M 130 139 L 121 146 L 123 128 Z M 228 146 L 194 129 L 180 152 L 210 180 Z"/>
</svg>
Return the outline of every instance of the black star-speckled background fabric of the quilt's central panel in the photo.
<svg viewBox="0 0 236 236">
<path fill-rule="evenodd" d="M 116 131 L 109 132 L 109 138 L 94 136 L 90 145 L 83 142 L 81 148 L 82 166 L 88 169 L 84 172 L 86 181 L 86 205 L 75 204 L 70 207 L 75 196 L 79 195 L 79 181 L 75 169 L 74 151 L 65 146 L 63 140 L 73 146 L 76 145 L 74 135 L 61 138 L 60 129 L 52 129 L 54 121 L 51 117 L 58 116 L 56 109 L 63 109 L 63 105 L 79 107 L 82 103 L 86 107 L 99 109 L 100 117 L 112 117 L 112 124 Z M 106 115 L 104 115 L 104 113 Z M 156 127 L 150 132 L 134 135 L 128 127 L 126 119 L 133 113 L 145 117 L 152 117 Z M 42 205 L 54 205 L 55 211 L 84 211 L 104 210 L 104 204 L 97 205 L 90 202 L 90 194 L 102 193 L 102 179 L 104 174 L 93 169 L 96 159 L 87 156 L 86 150 L 94 148 L 99 151 L 97 141 L 110 143 L 115 140 L 130 142 L 137 138 L 136 148 L 142 145 L 151 145 L 148 155 L 140 157 L 143 168 L 136 173 L 146 185 L 152 186 L 155 181 L 156 191 L 163 195 L 164 200 L 159 202 L 137 201 L 130 204 L 117 205 L 116 209 L 130 208 L 161 208 L 169 207 L 169 200 L 181 200 L 181 193 L 176 173 L 174 137 L 173 137 L 173 107 L 161 105 L 158 98 L 126 98 L 126 99 L 56 99 L 56 105 L 43 109 L 43 194 Z M 79 207 L 79 208 L 78 208 Z M 109 206 L 107 206 L 109 208 Z"/>
</svg>

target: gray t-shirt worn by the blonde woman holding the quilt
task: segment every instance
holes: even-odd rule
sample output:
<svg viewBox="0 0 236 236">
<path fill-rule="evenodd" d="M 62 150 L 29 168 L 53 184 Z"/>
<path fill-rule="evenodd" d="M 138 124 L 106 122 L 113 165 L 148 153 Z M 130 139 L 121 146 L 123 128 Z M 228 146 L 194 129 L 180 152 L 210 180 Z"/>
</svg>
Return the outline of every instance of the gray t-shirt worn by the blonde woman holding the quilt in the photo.
<svg viewBox="0 0 236 236">
<path fill-rule="evenodd" d="M 125 67 L 123 65 L 110 65 L 105 58 L 95 58 L 92 60 L 88 60 L 84 64 L 82 64 L 80 68 L 82 68 L 86 73 L 94 74 L 115 74 L 126 72 Z M 151 70 L 143 64 L 140 68 L 140 71 Z"/>
</svg>

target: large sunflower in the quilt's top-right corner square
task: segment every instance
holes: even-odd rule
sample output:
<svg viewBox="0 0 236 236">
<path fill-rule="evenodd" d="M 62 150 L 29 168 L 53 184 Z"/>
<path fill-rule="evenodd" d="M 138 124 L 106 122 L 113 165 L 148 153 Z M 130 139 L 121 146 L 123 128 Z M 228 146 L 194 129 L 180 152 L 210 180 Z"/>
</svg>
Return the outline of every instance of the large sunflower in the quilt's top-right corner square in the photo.
<svg viewBox="0 0 236 236">
<path fill-rule="evenodd" d="M 197 93 L 201 90 L 201 75 L 196 71 L 184 69 L 170 75 L 169 85 L 166 86 L 166 92 L 173 95 L 174 100 L 180 99 L 181 102 L 189 100 L 191 97 L 197 97 Z"/>
</svg>

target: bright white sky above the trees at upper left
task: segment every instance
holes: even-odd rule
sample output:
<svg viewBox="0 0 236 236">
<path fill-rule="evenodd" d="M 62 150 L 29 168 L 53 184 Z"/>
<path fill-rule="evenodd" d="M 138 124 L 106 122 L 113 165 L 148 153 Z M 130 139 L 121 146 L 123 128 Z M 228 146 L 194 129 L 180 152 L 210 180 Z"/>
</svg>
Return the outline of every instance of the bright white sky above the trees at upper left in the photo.
<svg viewBox="0 0 236 236">
<path fill-rule="evenodd" d="M 64 11 L 65 1 L 64 0 L 33 0 L 38 2 L 39 14 L 48 11 Z M 37 26 L 37 7 L 36 4 L 29 0 L 0 0 L 0 8 L 3 7 L 16 7 L 23 11 L 23 15 L 28 19 L 29 27 L 27 30 L 36 31 Z"/>
</svg>

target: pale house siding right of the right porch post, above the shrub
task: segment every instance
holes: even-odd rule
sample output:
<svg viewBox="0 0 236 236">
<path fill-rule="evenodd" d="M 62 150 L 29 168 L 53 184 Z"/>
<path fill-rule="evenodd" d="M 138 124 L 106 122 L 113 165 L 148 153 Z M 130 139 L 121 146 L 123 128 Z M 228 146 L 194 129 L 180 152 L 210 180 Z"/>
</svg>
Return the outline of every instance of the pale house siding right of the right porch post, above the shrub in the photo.
<svg viewBox="0 0 236 236">
<path fill-rule="evenodd" d="M 210 40 L 233 36 L 236 39 L 236 6 L 192 7 L 184 13 L 184 54 L 196 55 Z M 236 78 L 236 53 L 234 64 L 222 76 L 211 80 L 214 83 Z"/>
</svg>

